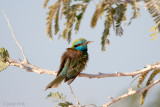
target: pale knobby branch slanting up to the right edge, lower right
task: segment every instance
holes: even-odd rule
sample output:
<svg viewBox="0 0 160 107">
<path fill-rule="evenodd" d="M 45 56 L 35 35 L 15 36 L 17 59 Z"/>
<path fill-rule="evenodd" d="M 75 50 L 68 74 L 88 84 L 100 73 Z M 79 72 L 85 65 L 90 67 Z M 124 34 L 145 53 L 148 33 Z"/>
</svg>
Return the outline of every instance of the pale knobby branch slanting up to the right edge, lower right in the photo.
<svg viewBox="0 0 160 107">
<path fill-rule="evenodd" d="M 133 90 L 132 88 L 131 88 L 131 89 L 128 89 L 128 93 L 126 93 L 126 94 L 124 94 L 124 95 L 122 95 L 122 96 L 119 96 L 119 97 L 117 97 L 117 98 L 111 97 L 111 99 L 113 99 L 113 100 L 110 101 L 110 102 L 108 102 L 108 103 L 106 103 L 106 104 L 104 104 L 103 107 L 108 107 L 108 106 L 110 106 L 111 104 L 116 103 L 116 102 L 118 102 L 119 100 L 122 100 L 122 99 L 124 99 L 124 98 L 126 98 L 126 97 L 128 97 L 128 96 L 134 95 L 134 94 L 136 94 L 136 93 L 142 94 L 145 90 L 149 90 L 151 87 L 153 87 L 154 85 L 158 84 L 159 82 L 160 82 L 160 79 L 157 79 L 157 80 L 153 81 L 150 85 L 148 85 L 148 86 L 146 86 L 146 87 L 144 87 L 144 88 L 140 88 L 139 90 Z"/>
</svg>

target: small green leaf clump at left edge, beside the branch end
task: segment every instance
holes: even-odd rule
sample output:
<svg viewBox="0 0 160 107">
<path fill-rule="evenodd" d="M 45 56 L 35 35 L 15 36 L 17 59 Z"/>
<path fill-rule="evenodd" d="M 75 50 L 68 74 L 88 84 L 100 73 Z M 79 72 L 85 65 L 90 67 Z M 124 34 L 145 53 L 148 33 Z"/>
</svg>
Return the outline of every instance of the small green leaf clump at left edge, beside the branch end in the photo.
<svg viewBox="0 0 160 107">
<path fill-rule="evenodd" d="M 0 48 L 0 72 L 8 67 L 9 53 L 5 48 Z"/>
</svg>

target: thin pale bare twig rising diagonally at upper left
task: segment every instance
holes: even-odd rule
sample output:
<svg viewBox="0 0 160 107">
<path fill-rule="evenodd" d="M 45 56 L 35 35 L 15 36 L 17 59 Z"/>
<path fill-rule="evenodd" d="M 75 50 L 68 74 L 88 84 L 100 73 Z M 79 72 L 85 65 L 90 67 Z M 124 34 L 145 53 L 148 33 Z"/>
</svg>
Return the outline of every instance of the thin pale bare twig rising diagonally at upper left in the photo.
<svg viewBox="0 0 160 107">
<path fill-rule="evenodd" d="M 16 41 L 17 45 L 19 46 L 19 48 L 20 48 L 21 51 L 22 51 L 22 55 L 23 55 L 23 57 L 24 57 L 24 63 L 28 63 L 28 60 L 27 60 L 27 58 L 26 58 L 26 56 L 25 56 L 25 54 L 24 54 L 24 51 L 23 51 L 23 47 L 18 43 L 18 41 L 17 41 L 17 39 L 16 39 L 16 37 L 15 37 L 15 35 L 14 35 L 14 32 L 13 32 L 12 26 L 11 26 L 11 24 L 10 24 L 10 21 L 9 21 L 9 19 L 7 18 L 6 13 L 5 13 L 3 10 L 2 10 L 2 12 L 3 12 L 3 14 L 4 14 L 4 17 L 5 17 L 6 21 L 8 22 L 8 26 L 9 26 L 11 32 L 12 32 L 12 36 L 13 36 L 14 40 Z"/>
</svg>

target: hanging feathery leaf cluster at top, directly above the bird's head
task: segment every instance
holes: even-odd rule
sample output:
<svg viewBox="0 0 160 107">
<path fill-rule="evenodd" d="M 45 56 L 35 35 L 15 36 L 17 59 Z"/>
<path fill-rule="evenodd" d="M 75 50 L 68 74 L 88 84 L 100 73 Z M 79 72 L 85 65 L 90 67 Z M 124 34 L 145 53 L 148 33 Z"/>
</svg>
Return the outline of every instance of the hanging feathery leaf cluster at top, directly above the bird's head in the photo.
<svg viewBox="0 0 160 107">
<path fill-rule="evenodd" d="M 47 35 L 50 39 L 52 39 L 52 20 L 55 20 L 54 31 L 56 35 L 59 32 L 59 18 L 62 17 L 63 14 L 66 18 L 66 22 L 64 24 L 66 27 L 63 29 L 62 37 L 63 39 L 67 39 L 68 42 L 71 41 L 73 25 L 74 23 L 76 24 L 74 29 L 76 32 L 78 32 L 84 12 L 88 6 L 86 3 L 88 3 L 89 0 L 81 2 L 83 2 L 83 4 L 71 4 L 71 0 L 58 0 L 54 5 L 49 7 L 48 17 L 46 20 Z M 48 1 L 45 1 L 45 6 L 46 3 L 48 3 Z"/>
</svg>

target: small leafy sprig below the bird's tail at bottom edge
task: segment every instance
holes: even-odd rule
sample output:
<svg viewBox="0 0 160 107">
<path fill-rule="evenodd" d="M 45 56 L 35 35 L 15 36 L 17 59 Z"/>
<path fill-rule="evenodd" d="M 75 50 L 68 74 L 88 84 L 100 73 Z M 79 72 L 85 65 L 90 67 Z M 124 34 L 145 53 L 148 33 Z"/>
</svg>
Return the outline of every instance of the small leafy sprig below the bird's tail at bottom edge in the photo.
<svg viewBox="0 0 160 107">
<path fill-rule="evenodd" d="M 52 102 L 57 102 L 60 107 L 68 107 L 69 105 L 73 105 L 71 102 L 66 101 L 66 96 L 59 92 L 50 92 L 47 96 L 47 99 L 52 100 Z"/>
</svg>

